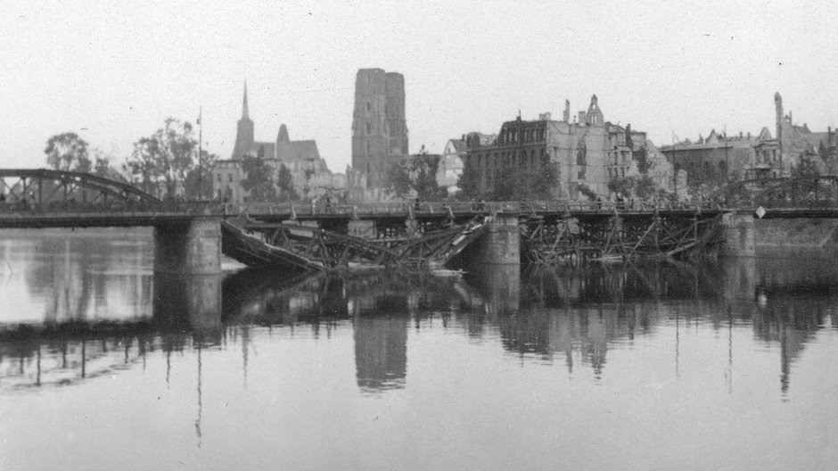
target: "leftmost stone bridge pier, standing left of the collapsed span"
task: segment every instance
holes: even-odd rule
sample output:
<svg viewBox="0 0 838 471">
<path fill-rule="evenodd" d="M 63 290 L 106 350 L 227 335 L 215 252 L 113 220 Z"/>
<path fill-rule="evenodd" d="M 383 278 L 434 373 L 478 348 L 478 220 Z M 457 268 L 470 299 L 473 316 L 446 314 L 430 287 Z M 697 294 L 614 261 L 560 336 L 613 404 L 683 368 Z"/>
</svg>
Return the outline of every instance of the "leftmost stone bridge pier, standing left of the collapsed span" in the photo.
<svg viewBox="0 0 838 471">
<path fill-rule="evenodd" d="M 154 227 L 154 272 L 221 273 L 221 219 L 193 218 Z"/>
</svg>

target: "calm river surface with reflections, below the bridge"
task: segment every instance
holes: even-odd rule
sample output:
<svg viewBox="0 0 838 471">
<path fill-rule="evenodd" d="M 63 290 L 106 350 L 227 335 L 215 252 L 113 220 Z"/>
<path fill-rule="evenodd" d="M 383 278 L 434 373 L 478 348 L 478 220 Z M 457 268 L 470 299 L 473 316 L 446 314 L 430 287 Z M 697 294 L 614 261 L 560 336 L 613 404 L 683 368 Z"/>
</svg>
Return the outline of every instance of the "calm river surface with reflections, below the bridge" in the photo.
<svg viewBox="0 0 838 471">
<path fill-rule="evenodd" d="M 0 232 L 0 469 L 834 469 L 838 257 L 155 277 Z"/>
</svg>

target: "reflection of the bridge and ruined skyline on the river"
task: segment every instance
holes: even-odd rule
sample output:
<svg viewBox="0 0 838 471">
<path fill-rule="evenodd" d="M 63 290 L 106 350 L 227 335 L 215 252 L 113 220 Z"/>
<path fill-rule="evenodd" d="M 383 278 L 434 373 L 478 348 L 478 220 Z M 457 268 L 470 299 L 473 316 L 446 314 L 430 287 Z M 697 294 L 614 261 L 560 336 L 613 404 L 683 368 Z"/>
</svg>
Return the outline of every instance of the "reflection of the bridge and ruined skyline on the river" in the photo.
<svg viewBox="0 0 838 471">
<path fill-rule="evenodd" d="M 595 377 L 606 374 L 613 343 L 665 326 L 675 327 L 677 364 L 680 329 L 702 323 L 728 339 L 729 387 L 733 329 L 750 325 L 756 339 L 779 345 L 780 389 L 787 392 L 794 362 L 818 329 L 834 324 L 838 302 L 838 269 L 788 260 L 486 267 L 455 277 L 286 277 L 247 269 L 222 279 L 154 276 L 145 245 L 105 245 L 56 239 L 40 245 L 46 256 L 31 256 L 23 277 L 32 305 L 44 312 L 37 322 L 2 325 L 4 387 L 73 384 L 143 368 L 149 351 L 193 350 L 200 417 L 201 349 L 236 344 L 246 382 L 252 330 L 286 326 L 316 338 L 353 329 L 357 387 L 383 392 L 407 384 L 408 332 L 440 319 L 471 337 L 497 336 L 522 359 L 559 359 L 570 373 L 585 367 Z"/>
</svg>

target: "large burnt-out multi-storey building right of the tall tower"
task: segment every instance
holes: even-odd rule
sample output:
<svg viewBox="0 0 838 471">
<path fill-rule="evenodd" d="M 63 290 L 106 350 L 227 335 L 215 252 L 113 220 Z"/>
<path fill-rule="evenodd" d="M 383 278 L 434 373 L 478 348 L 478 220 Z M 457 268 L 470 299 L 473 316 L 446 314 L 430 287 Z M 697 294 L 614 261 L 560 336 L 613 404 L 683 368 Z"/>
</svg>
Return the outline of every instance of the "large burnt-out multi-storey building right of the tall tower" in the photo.
<svg viewBox="0 0 838 471">
<path fill-rule="evenodd" d="M 539 171 L 553 163 L 559 170 L 555 197 L 575 198 L 582 186 L 608 195 L 612 180 L 629 177 L 634 154 L 646 146 L 646 135 L 604 120 L 593 95 L 578 120 L 571 122 L 570 102 L 565 101 L 563 120 L 553 120 L 550 113 L 540 114 L 538 120 L 519 116 L 506 121 L 490 142 L 479 133 L 470 133 L 465 141 L 465 158 L 479 172 L 481 192 L 491 193 L 507 166 Z"/>
</svg>

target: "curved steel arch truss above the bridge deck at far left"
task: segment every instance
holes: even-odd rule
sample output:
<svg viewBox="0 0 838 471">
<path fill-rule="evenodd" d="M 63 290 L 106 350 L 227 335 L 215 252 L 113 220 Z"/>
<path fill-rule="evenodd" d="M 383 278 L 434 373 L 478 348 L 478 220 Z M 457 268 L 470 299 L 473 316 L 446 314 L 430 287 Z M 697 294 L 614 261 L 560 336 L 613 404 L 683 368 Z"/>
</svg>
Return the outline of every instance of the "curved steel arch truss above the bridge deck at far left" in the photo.
<svg viewBox="0 0 838 471">
<path fill-rule="evenodd" d="M 0 193 L 7 203 L 41 208 L 129 206 L 154 208 L 160 200 L 127 183 L 82 172 L 0 169 Z"/>
</svg>

